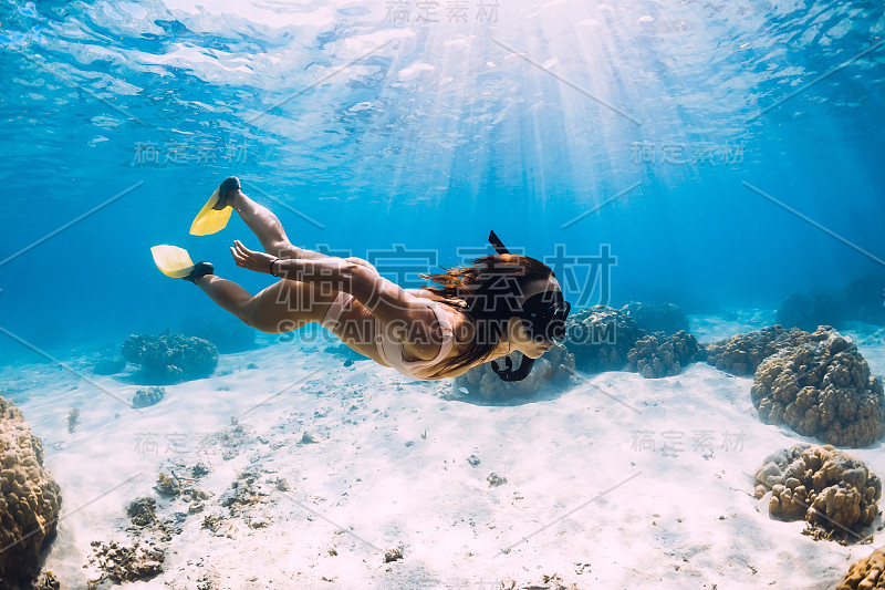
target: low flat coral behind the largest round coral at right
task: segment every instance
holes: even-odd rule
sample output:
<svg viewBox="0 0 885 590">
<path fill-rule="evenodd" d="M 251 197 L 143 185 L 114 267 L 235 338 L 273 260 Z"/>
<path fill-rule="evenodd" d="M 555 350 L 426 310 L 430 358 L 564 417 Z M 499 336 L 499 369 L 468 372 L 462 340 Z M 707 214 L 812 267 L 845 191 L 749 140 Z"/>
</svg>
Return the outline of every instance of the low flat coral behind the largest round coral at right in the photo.
<svg viewBox="0 0 885 590">
<path fill-rule="evenodd" d="M 785 330 L 782 325 L 769 325 L 707 344 L 707 363 L 732 375 L 751 375 L 767 358 L 808 337 L 808 332 L 795 328 Z"/>
</svg>

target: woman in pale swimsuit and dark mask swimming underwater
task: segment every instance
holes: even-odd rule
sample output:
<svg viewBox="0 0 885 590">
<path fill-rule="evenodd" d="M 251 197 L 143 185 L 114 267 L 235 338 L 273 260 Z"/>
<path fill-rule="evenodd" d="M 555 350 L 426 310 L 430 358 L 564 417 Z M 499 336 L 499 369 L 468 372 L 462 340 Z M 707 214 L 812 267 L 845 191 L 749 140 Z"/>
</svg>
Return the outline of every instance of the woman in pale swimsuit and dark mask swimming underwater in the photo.
<svg viewBox="0 0 885 590">
<path fill-rule="evenodd" d="M 421 275 L 436 283 L 426 289 L 403 289 L 361 258 L 293 246 L 280 220 L 247 197 L 236 177 L 226 179 L 214 199 L 207 207 L 231 207 L 264 249 L 253 251 L 235 240 L 230 251 L 237 266 L 282 280 L 252 296 L 214 275 L 209 262 L 188 266 L 183 278 L 262 332 L 316 322 L 354 351 L 425 381 L 458 376 L 513 351 L 524 355 L 518 370 L 510 359 L 506 370 L 492 366 L 502 380 L 521 380 L 554 339 L 564 338 L 571 306 L 553 271 L 509 253 L 493 231 L 489 239 L 498 255 L 442 275 Z"/>
</svg>

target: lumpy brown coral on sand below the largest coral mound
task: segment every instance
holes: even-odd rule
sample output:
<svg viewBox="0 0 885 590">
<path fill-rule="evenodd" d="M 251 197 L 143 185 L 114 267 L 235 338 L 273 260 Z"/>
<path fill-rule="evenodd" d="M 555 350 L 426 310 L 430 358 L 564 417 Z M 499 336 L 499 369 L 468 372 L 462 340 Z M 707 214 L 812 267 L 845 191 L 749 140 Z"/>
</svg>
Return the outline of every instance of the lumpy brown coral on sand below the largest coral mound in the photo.
<svg viewBox="0 0 885 590">
<path fill-rule="evenodd" d="M 766 457 L 756 473 L 756 497 L 768 491 L 771 516 L 803 518 L 809 528 L 858 540 L 878 514 L 882 480 L 832 445 L 799 444 Z"/>
</svg>

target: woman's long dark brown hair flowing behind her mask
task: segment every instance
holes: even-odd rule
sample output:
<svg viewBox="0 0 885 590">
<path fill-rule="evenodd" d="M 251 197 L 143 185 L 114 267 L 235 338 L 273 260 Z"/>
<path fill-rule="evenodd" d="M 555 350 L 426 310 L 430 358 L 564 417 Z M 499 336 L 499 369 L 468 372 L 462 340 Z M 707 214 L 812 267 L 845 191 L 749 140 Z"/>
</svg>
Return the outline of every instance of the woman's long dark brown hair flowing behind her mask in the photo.
<svg viewBox="0 0 885 590">
<path fill-rule="evenodd" d="M 511 315 L 520 311 L 524 287 L 538 279 L 555 277 L 534 258 L 504 253 L 482 256 L 469 265 L 459 265 L 441 275 L 419 275 L 436 284 L 424 289 L 465 313 L 473 324 L 472 346 L 442 365 L 446 371 L 461 369 L 489 356 L 507 332 Z"/>
</svg>

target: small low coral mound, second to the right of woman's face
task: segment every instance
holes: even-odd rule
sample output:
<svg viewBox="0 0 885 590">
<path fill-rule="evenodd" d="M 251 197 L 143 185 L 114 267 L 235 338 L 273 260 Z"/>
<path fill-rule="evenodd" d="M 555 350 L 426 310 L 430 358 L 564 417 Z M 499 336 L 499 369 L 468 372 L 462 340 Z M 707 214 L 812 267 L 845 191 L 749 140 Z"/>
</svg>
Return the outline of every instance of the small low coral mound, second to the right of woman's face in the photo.
<svg viewBox="0 0 885 590">
<path fill-rule="evenodd" d="M 655 379 L 678 375 L 684 366 L 701 355 L 697 339 L 679 330 L 673 335 L 664 332 L 644 335 L 627 353 L 627 361 L 631 371 Z"/>
</svg>

